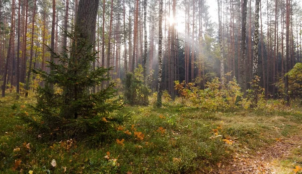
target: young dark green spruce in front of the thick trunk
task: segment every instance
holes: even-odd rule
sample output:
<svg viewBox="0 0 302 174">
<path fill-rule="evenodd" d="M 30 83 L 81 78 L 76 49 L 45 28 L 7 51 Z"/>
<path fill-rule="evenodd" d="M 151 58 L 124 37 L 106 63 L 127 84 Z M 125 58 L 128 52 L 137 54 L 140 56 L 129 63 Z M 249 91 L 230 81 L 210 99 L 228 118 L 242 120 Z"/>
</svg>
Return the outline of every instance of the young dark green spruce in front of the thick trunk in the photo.
<svg viewBox="0 0 302 174">
<path fill-rule="evenodd" d="M 122 105 L 114 99 L 114 83 L 93 94 L 94 86 L 109 80 L 103 67 L 91 68 L 96 59 L 92 46 L 74 33 L 67 33 L 72 46 L 55 55 L 58 64 L 48 62 L 50 73 L 33 69 L 40 75 L 45 86 L 39 86 L 35 114 L 20 117 L 29 123 L 38 134 L 53 139 L 85 138 L 87 135 L 104 135 L 114 123 L 122 123 L 123 116 L 113 116 L 113 111 Z"/>
</svg>

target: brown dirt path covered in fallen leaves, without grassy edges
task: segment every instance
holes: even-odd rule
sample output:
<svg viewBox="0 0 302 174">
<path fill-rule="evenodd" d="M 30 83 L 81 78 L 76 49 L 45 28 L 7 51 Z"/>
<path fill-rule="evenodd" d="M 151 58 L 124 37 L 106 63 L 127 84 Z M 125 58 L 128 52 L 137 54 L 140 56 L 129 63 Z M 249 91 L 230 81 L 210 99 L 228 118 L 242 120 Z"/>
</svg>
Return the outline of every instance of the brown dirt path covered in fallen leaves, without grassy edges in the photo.
<svg viewBox="0 0 302 174">
<path fill-rule="evenodd" d="M 278 162 L 287 159 L 294 148 L 302 148 L 302 135 L 295 135 L 290 138 L 278 139 L 271 146 L 259 149 L 255 154 L 236 154 L 229 161 L 228 165 L 220 165 L 215 174 L 231 173 L 284 173 L 280 171 Z M 298 161 L 301 162 L 301 161 Z M 302 164 L 301 164 L 302 165 Z M 287 168 L 285 173 L 293 173 L 291 168 Z"/>
</svg>

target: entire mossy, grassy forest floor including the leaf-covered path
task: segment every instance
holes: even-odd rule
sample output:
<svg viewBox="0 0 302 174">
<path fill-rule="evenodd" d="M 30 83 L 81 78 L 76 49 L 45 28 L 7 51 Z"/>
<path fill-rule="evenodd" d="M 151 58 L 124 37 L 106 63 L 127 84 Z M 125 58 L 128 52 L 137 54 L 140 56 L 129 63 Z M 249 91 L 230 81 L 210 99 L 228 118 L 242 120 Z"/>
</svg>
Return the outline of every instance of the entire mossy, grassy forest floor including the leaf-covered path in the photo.
<svg viewBox="0 0 302 174">
<path fill-rule="evenodd" d="M 302 173 L 299 105 L 126 106 L 118 113 L 131 112 L 130 120 L 98 143 L 46 141 L 18 118 L 37 117 L 31 104 L 34 98 L 0 98 L 0 173 Z"/>
</svg>

